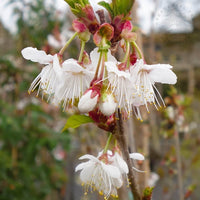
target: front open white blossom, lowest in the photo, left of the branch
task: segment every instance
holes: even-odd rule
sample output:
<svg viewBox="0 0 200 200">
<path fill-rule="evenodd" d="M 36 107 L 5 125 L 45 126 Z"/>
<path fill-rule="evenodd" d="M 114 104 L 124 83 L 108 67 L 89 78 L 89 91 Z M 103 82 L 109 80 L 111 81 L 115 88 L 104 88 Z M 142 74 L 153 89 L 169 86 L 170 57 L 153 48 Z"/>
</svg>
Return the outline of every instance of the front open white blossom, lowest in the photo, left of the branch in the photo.
<svg viewBox="0 0 200 200">
<path fill-rule="evenodd" d="M 110 195 L 117 197 L 117 189 L 123 184 L 120 170 L 110 164 L 106 157 L 102 158 L 102 155 L 94 157 L 87 154 L 79 159 L 88 159 L 75 169 L 76 172 L 81 171 L 80 179 L 86 184 L 86 193 L 89 189 L 98 190 L 104 195 L 104 199 L 108 199 Z"/>
</svg>

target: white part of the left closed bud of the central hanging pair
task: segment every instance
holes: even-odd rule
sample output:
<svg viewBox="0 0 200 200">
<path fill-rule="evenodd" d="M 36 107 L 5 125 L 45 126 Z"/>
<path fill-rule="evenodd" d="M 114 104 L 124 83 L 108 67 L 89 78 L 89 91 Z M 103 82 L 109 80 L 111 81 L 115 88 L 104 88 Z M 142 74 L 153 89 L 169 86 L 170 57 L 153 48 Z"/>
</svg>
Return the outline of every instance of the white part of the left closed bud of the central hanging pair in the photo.
<svg viewBox="0 0 200 200">
<path fill-rule="evenodd" d="M 92 111 L 97 105 L 98 95 L 91 97 L 92 90 L 88 90 L 80 99 L 78 103 L 78 109 L 82 113 L 88 113 Z"/>
</svg>

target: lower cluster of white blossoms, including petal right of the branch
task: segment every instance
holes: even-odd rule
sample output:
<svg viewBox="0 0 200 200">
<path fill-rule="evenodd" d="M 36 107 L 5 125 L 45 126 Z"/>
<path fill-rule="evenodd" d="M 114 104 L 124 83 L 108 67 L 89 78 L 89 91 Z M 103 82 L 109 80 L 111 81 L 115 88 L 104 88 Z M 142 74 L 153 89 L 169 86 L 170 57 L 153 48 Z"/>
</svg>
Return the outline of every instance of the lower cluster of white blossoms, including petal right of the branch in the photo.
<svg viewBox="0 0 200 200">
<path fill-rule="evenodd" d="M 130 154 L 130 158 L 144 160 L 144 156 L 139 153 Z M 119 151 L 100 152 L 97 157 L 87 154 L 79 159 L 88 159 L 77 165 L 75 169 L 75 171 L 81 171 L 80 178 L 82 185 L 85 185 L 85 194 L 88 191 L 98 190 L 100 195 L 104 195 L 104 199 L 108 199 L 110 195 L 118 197 L 117 189 L 123 185 L 123 177 L 127 177 L 129 172 Z"/>
</svg>

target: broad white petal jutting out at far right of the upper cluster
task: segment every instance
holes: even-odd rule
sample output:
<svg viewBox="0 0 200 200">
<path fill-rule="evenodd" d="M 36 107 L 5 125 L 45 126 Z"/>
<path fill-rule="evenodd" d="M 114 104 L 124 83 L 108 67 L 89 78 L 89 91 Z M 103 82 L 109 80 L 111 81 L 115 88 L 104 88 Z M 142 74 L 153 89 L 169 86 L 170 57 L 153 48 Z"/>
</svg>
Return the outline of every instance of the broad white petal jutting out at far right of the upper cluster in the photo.
<svg viewBox="0 0 200 200">
<path fill-rule="evenodd" d="M 168 64 L 144 65 L 145 69 L 149 69 L 149 78 L 152 83 L 175 84 L 177 82 L 176 74 L 171 71 L 172 66 Z"/>
</svg>

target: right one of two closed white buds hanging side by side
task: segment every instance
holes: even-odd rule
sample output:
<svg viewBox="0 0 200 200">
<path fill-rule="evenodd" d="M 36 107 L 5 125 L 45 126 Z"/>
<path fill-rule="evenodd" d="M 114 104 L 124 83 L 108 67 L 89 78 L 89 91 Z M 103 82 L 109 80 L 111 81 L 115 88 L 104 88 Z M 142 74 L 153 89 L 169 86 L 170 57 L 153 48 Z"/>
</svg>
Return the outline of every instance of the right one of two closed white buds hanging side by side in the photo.
<svg viewBox="0 0 200 200">
<path fill-rule="evenodd" d="M 117 103 L 112 94 L 104 93 L 99 102 L 99 110 L 106 116 L 110 116 L 115 112 Z"/>
</svg>

